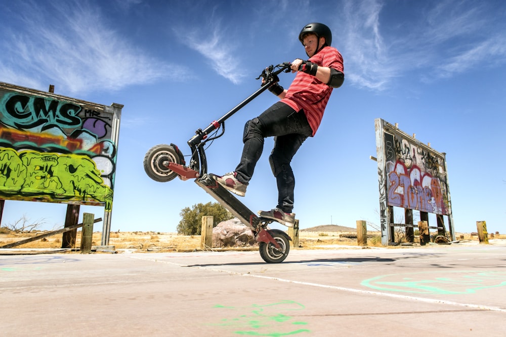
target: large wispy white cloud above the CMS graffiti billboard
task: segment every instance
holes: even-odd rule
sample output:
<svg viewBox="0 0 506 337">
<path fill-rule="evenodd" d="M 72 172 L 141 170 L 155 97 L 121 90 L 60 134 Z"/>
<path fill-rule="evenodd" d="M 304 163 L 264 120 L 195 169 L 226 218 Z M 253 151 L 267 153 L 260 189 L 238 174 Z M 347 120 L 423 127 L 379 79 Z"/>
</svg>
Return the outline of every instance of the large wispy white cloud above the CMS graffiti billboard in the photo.
<svg viewBox="0 0 506 337">
<path fill-rule="evenodd" d="M 3 31 L 3 80 L 25 85 L 30 78 L 27 85 L 52 83 L 74 94 L 185 75 L 183 68 L 131 46 L 86 2 L 55 3 L 52 13 L 45 10 L 31 3 L 23 8 L 23 29 Z"/>
</svg>

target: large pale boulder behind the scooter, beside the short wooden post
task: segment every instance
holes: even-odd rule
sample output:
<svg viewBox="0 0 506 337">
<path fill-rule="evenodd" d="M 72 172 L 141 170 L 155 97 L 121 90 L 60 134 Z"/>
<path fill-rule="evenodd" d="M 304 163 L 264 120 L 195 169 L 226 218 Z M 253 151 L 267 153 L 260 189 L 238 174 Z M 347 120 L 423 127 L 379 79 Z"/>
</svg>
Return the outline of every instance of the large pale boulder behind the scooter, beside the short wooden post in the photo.
<svg viewBox="0 0 506 337">
<path fill-rule="evenodd" d="M 249 247 L 257 244 L 251 229 L 237 218 L 222 221 L 213 228 L 213 247 Z"/>
</svg>

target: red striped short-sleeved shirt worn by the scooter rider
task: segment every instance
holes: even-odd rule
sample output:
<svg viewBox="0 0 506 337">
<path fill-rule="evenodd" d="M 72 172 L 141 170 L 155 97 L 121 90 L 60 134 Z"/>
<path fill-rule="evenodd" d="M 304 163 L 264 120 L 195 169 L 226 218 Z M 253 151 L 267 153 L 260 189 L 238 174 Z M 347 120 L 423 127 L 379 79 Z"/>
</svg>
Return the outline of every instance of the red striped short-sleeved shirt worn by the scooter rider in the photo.
<svg viewBox="0 0 506 337">
<path fill-rule="evenodd" d="M 344 73 L 343 57 L 334 47 L 323 47 L 309 61 Z M 314 136 L 320 126 L 332 89 L 315 76 L 298 71 L 281 102 L 295 111 L 304 110 Z"/>
</svg>

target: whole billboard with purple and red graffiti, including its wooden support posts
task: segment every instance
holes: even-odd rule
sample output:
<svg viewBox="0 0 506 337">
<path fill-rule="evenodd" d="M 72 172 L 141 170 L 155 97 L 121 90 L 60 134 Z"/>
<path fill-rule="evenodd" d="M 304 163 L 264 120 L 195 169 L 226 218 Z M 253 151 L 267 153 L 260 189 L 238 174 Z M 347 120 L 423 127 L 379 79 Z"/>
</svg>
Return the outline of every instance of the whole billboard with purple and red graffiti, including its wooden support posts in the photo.
<svg viewBox="0 0 506 337">
<path fill-rule="evenodd" d="M 420 220 L 428 221 L 428 213 L 436 214 L 438 233 L 445 231 L 443 216 L 448 217 L 451 239 L 455 239 L 451 213 L 446 154 L 421 143 L 396 126 L 377 118 L 376 153 L 379 183 L 379 213 L 382 244 L 394 240 L 393 207 L 407 212 L 417 210 Z M 406 219 L 408 216 L 406 216 Z M 407 223 L 412 228 L 416 225 Z"/>
</svg>

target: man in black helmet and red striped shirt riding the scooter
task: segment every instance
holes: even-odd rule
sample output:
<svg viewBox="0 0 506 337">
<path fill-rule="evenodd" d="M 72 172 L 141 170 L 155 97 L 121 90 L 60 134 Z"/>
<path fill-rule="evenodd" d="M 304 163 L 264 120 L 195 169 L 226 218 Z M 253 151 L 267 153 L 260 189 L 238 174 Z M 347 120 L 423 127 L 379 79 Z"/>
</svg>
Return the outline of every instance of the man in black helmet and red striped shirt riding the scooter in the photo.
<svg viewBox="0 0 506 337">
<path fill-rule="evenodd" d="M 315 135 L 332 88 L 340 87 L 344 81 L 343 57 L 330 46 L 332 34 L 326 25 L 310 23 L 304 26 L 299 40 L 309 60 L 296 59 L 291 63 L 292 73 L 298 73 L 288 89 L 278 83 L 269 87 L 281 101 L 246 122 L 241 161 L 235 171 L 215 175 L 223 187 L 243 197 L 262 154 L 264 138 L 274 136 L 269 162 L 276 177 L 278 205 L 258 214 L 288 227 L 293 227 L 295 221 L 292 213 L 295 178 L 290 162 L 306 138 Z"/>
</svg>

